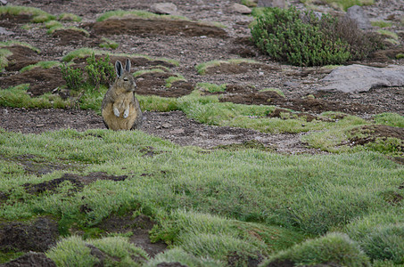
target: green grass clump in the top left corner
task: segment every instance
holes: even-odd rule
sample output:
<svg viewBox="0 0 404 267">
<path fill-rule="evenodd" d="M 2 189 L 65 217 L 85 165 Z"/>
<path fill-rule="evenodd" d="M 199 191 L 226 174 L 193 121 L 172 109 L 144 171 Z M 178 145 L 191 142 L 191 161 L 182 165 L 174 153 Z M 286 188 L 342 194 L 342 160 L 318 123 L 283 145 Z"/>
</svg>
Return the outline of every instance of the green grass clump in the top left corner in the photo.
<svg viewBox="0 0 404 267">
<path fill-rule="evenodd" d="M 9 14 L 13 16 L 29 15 L 31 21 L 34 23 L 42 23 L 49 20 L 54 20 L 54 15 L 44 12 L 35 7 L 21 6 L 21 5 L 5 5 L 0 6 L 0 15 Z"/>
</svg>

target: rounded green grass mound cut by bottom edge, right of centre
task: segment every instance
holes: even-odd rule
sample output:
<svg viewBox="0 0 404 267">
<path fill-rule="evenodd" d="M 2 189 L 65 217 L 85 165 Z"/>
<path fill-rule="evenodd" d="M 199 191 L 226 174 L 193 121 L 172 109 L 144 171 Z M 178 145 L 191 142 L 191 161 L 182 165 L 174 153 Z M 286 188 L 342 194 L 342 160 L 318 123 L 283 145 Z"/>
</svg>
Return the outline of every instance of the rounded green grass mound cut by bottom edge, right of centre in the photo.
<svg viewBox="0 0 404 267">
<path fill-rule="evenodd" d="M 284 262 L 295 265 L 334 263 L 342 266 L 370 266 L 367 255 L 361 251 L 359 245 L 341 233 L 329 233 L 322 238 L 309 239 L 271 256 L 264 264 Z"/>
</svg>

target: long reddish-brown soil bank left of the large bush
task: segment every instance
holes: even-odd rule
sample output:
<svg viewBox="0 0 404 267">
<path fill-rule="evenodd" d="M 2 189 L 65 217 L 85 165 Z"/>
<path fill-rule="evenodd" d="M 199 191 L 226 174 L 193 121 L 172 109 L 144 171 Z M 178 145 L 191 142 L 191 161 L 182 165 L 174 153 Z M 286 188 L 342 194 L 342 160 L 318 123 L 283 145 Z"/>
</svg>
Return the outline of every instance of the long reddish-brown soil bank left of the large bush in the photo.
<svg viewBox="0 0 404 267">
<path fill-rule="evenodd" d="M 88 25 L 96 35 L 169 35 L 225 38 L 223 28 L 187 20 L 110 19 Z"/>
</svg>

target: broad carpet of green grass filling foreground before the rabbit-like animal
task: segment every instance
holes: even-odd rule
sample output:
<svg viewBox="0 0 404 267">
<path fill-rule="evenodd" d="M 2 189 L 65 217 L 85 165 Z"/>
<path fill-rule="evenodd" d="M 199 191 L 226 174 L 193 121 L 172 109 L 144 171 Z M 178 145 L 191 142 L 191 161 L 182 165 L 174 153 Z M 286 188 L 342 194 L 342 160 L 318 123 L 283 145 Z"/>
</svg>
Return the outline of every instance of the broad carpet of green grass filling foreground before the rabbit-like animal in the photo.
<svg viewBox="0 0 404 267">
<path fill-rule="evenodd" d="M 144 150 L 151 148 L 153 157 L 144 157 Z M 164 240 L 172 249 L 157 260 L 172 256 L 172 261 L 217 265 L 226 263 L 234 252 L 238 252 L 236 262 L 244 264 L 248 257 L 271 257 L 282 251 L 303 255 L 308 247 L 316 248 L 313 251 L 319 258 L 342 255 L 345 262 L 341 263 L 348 264 L 351 252 L 358 252 L 355 244 L 340 236 L 316 237 L 346 231 L 371 214 L 393 214 L 398 207 L 390 204 L 385 192 L 399 190 L 404 175 L 402 166 L 374 152 L 293 157 L 251 149 L 202 153 L 140 131 L 78 133 L 66 129 L 18 134 L 0 130 L 0 154 L 0 191 L 11 193 L 8 205 L 0 206 L 4 220 L 49 214 L 59 221 L 61 231 L 68 233 L 73 223 L 81 231 L 92 231 L 120 211 L 147 214 L 157 222 L 153 239 Z M 26 174 L 18 159 L 23 155 L 49 163 L 81 165 L 84 168 L 76 171 L 78 174 L 106 172 L 128 178 L 97 181 L 78 191 L 64 182 L 55 191 L 29 195 L 23 184 L 51 181 L 69 171 Z M 82 213 L 80 206 L 90 211 Z M 389 237 L 390 231 L 375 231 L 373 236 Z M 350 232 L 350 238 L 357 240 Z M 305 239 L 307 243 L 293 247 Z M 120 258 L 132 251 L 125 239 L 112 246 L 103 243 L 115 241 L 103 238 L 83 241 L 68 237 L 48 255 L 87 264 L 94 259 L 84 242 L 100 249 L 122 247 L 122 253 L 113 255 Z M 361 244 L 360 239 L 357 242 Z M 321 247 L 327 246 L 333 249 L 322 252 Z M 112 248 L 103 249 L 112 255 Z M 400 247 L 396 249 L 402 252 Z M 310 259 L 301 257 L 300 263 Z"/>
</svg>

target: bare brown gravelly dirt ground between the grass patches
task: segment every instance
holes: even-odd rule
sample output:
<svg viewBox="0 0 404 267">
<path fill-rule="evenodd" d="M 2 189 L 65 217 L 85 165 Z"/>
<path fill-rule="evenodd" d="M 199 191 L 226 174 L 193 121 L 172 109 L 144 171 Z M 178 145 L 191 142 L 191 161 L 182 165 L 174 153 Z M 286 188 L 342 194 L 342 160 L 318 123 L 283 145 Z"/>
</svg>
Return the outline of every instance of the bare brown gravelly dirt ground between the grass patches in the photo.
<svg viewBox="0 0 404 267">
<path fill-rule="evenodd" d="M 84 28 L 89 32 L 89 36 L 70 29 L 58 30 L 52 35 L 47 34 L 46 28 L 41 26 L 22 29 L 21 26 L 29 22 L 29 16 L 0 15 L 0 27 L 12 32 L 12 35 L 0 35 L 0 41 L 17 40 L 40 49 L 40 53 L 36 53 L 19 45 L 11 47 L 12 56 L 8 57 L 9 65 L 4 72 L 0 73 L 0 86 L 7 88 L 29 83 L 28 93 L 32 97 L 43 93 L 61 92 L 55 90 L 64 85 L 59 68 L 31 69 L 22 73 L 19 70 L 38 61 L 62 61 L 64 55 L 78 48 L 100 49 L 98 45 L 103 42 L 102 38 L 108 37 L 120 44 L 117 50 L 110 50 L 111 53 L 137 53 L 179 61 L 179 66 L 175 66 L 167 61 L 146 60 L 142 57 L 131 58 L 133 71 L 169 68 L 169 71 L 163 73 L 149 73 L 137 77 L 136 93 L 139 94 L 180 97 L 191 93 L 197 83 L 208 82 L 217 85 L 227 84 L 227 90 L 220 93 L 222 94 L 221 101 L 276 105 L 278 109 L 272 116 L 279 116 L 281 112 L 285 112 L 284 109 L 304 112 L 302 115 L 308 121 L 317 118 L 324 111 L 342 111 L 365 118 L 370 118 L 381 112 L 395 112 L 404 115 L 403 87 L 375 88 L 367 93 L 354 94 L 321 92 L 316 90 L 319 80 L 326 77 L 331 71 L 330 69 L 293 67 L 271 61 L 267 55 L 260 53 L 250 41 L 251 35 L 248 25 L 252 20 L 251 16 L 233 11 L 232 5 L 240 1 L 169 1 L 177 5 L 181 15 L 194 20 L 194 22 L 134 19 L 95 21 L 103 12 L 118 9 L 151 11 L 151 5 L 160 2 L 157 0 L 9 0 L 9 4 L 37 7 L 54 15 L 62 12 L 75 13 L 81 16 L 83 20 L 81 22 L 64 22 L 65 25 Z M 302 4 L 298 0 L 289 2 L 302 8 Z M 323 6 L 323 8 L 326 7 Z M 365 7 L 365 12 L 372 20 L 392 20 L 394 22 L 393 29 L 397 32 L 404 32 L 403 26 L 397 22 L 404 15 L 400 0 L 376 0 L 374 5 Z M 212 26 L 212 21 L 221 23 L 224 28 Z M 401 33 L 399 36 L 400 42 L 403 43 L 404 35 Z M 375 53 L 367 61 L 355 63 L 377 67 L 385 67 L 390 64 L 402 65 L 404 64 L 403 59 L 395 59 L 395 55 L 398 53 L 404 53 L 402 45 Z M 240 65 L 221 64 L 207 69 L 205 75 L 198 74 L 195 69 L 195 66 L 202 62 L 227 61 L 235 58 L 249 58 L 258 62 Z M 112 57 L 111 60 L 122 61 L 123 59 Z M 83 60 L 81 62 L 75 61 L 78 66 L 82 63 Z M 186 81 L 174 83 L 172 87 L 166 88 L 164 86 L 165 79 L 175 74 L 184 76 Z M 260 89 L 268 87 L 279 89 L 284 93 L 284 96 L 271 91 L 260 92 Z M 307 98 L 308 95 L 312 95 L 314 98 Z M 66 95 L 62 96 L 66 97 Z M 65 128 L 78 131 L 105 128 L 102 117 L 92 110 L 5 107 L 0 108 L 0 127 L 7 131 L 24 134 L 40 134 L 45 131 Z M 168 139 L 178 145 L 198 146 L 202 149 L 231 147 L 235 144 L 241 144 L 284 154 L 324 153 L 308 148 L 301 142 L 301 136 L 304 134 L 262 134 L 251 129 L 202 125 L 186 117 L 181 111 L 144 112 L 144 125 L 141 130 L 147 134 Z M 371 130 L 375 131 L 375 129 Z M 377 133 L 384 133 L 389 129 L 378 130 L 380 131 Z M 387 132 L 392 134 L 392 131 Z M 402 132 L 397 134 L 400 136 Z M 361 142 L 368 142 L 368 140 Z M 38 175 L 64 168 L 69 169 L 69 166 L 63 166 L 62 163 L 57 166 L 49 164 L 34 166 L 30 163 L 29 158 L 19 158 L 18 160 L 24 165 L 27 172 Z M 52 190 L 60 182 L 69 180 L 75 184 L 76 190 L 81 190 L 83 184 L 95 182 L 98 179 L 120 181 L 126 177 L 115 177 L 102 173 L 87 176 L 66 174 L 57 181 L 35 186 L 27 184 L 25 189 L 29 193 L 40 194 L 42 190 Z M 7 199 L 6 192 L 0 192 L 0 200 L 4 199 Z M 83 206 L 83 212 L 87 211 L 86 208 Z M 40 217 L 29 223 L 2 225 L 0 229 L 14 229 L 14 231 L 12 231 L 12 235 L 4 235 L 4 239 L 0 239 L 0 244 L 9 247 L 14 246 L 13 249 L 22 251 L 43 252 L 47 247 L 54 244 L 54 232 L 57 231 L 55 230 L 55 223 L 50 218 Z M 104 231 L 134 231 L 135 235 L 131 241 L 144 247 L 150 255 L 155 255 L 163 251 L 165 245 L 150 243 L 148 231 L 152 227 L 153 222 L 149 218 L 132 218 L 129 215 L 124 219 L 120 218 L 120 220 L 116 220 L 112 216 L 100 225 Z M 47 232 L 44 235 L 44 244 L 37 243 L 39 248 L 29 247 L 29 244 L 32 245 L 32 238 L 36 235 L 32 235 L 29 239 L 26 233 L 36 231 L 37 228 L 45 229 Z M 2 232 L 4 233 L 5 230 Z M 19 240 L 19 242 L 12 243 L 12 239 Z M 106 256 L 96 251 L 96 247 L 92 247 L 92 254 L 93 252 L 100 261 Z M 53 263 L 48 263 L 49 259 L 44 257 L 45 255 L 40 253 L 29 253 L 24 255 L 19 263 L 54 266 Z"/>
</svg>

